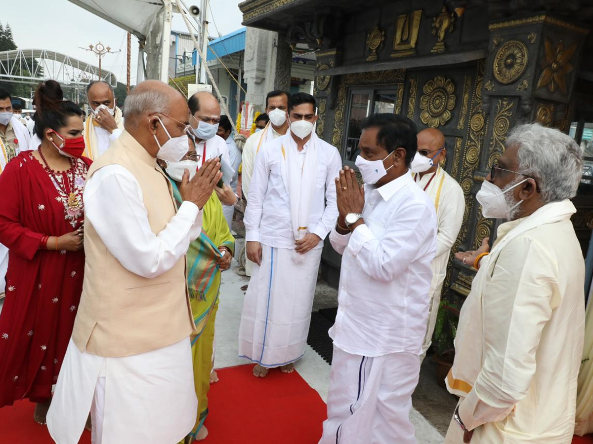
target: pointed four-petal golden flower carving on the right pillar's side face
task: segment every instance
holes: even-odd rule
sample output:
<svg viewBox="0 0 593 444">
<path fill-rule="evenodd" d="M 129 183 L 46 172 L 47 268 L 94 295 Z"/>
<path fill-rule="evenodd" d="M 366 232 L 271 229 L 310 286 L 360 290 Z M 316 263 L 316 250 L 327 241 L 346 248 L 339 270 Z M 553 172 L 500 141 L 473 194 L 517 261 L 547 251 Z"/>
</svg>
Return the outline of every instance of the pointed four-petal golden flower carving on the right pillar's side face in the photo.
<svg viewBox="0 0 593 444">
<path fill-rule="evenodd" d="M 560 91 L 566 94 L 566 75 L 573 70 L 570 59 L 575 54 L 576 43 L 565 49 L 564 42 L 558 41 L 552 44 L 549 38 L 546 38 L 544 44 L 545 57 L 541 60 L 543 72 L 537 81 L 537 88 L 547 86 L 550 92 Z"/>
</svg>

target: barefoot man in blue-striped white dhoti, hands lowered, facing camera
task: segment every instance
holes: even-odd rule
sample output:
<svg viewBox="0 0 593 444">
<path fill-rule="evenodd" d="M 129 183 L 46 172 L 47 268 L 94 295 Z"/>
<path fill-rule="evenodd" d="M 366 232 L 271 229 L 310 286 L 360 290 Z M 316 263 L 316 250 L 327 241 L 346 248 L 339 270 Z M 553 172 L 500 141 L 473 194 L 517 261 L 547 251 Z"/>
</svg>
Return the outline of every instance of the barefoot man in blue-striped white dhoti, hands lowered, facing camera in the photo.
<svg viewBox="0 0 593 444">
<path fill-rule="evenodd" d="M 313 133 L 315 98 L 288 101 L 290 131 L 262 146 L 245 212 L 247 257 L 256 265 L 245 295 L 239 355 L 285 373 L 305 352 L 323 239 L 337 218 L 337 149 Z"/>
</svg>

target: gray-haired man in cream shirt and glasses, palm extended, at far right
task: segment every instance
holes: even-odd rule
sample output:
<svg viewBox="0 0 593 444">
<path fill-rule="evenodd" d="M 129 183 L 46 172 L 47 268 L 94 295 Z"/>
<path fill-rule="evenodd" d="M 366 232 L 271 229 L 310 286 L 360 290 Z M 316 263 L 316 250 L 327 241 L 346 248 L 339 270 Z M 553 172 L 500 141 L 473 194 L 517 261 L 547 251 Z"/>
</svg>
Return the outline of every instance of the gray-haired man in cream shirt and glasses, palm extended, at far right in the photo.
<svg viewBox="0 0 593 444">
<path fill-rule="evenodd" d="M 539 124 L 516 127 L 476 195 L 484 217 L 506 219 L 461 309 L 446 382 L 458 395 L 445 443 L 572 441 L 585 324 L 585 266 L 569 201 L 582 150 Z"/>
</svg>

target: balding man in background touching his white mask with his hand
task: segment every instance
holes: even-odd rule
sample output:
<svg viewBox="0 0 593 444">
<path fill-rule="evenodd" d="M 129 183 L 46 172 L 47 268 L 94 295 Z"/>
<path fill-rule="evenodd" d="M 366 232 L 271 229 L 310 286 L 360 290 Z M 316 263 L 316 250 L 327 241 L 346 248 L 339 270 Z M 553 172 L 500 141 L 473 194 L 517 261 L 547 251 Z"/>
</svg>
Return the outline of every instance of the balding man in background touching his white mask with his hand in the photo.
<svg viewBox="0 0 593 444">
<path fill-rule="evenodd" d="M 122 134 L 122 110 L 117 107 L 113 88 L 107 82 L 89 83 L 87 100 L 91 112 L 84 123 L 84 156 L 97 160 Z"/>
</svg>

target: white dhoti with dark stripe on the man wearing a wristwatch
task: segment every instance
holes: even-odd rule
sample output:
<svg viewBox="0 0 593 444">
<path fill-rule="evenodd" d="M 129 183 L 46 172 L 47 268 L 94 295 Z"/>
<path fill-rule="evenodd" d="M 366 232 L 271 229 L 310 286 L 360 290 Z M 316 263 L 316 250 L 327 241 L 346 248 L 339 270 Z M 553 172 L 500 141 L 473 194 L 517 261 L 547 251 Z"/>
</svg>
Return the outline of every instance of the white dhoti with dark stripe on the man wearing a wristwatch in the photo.
<svg viewBox="0 0 593 444">
<path fill-rule="evenodd" d="M 369 358 L 334 346 L 319 444 L 416 444 L 410 411 L 419 375 L 413 353 Z"/>
</svg>

